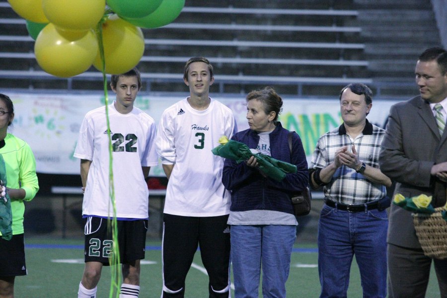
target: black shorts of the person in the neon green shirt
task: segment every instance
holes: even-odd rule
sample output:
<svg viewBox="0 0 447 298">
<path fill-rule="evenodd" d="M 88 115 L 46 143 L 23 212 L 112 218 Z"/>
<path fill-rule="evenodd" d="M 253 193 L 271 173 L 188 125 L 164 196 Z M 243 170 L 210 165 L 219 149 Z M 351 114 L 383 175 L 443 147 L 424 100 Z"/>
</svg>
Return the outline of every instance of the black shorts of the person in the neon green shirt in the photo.
<svg viewBox="0 0 447 298">
<path fill-rule="evenodd" d="M 0 277 L 26 275 L 25 241 L 23 234 L 10 240 L 0 236 Z"/>
</svg>

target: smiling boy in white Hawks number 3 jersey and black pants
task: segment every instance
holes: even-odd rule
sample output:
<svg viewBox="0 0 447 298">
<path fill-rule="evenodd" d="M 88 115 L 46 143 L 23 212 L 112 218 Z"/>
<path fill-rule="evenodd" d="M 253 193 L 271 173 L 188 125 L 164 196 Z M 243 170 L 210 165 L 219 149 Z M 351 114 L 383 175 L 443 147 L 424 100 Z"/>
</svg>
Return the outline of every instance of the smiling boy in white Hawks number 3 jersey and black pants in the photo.
<svg viewBox="0 0 447 298">
<path fill-rule="evenodd" d="M 211 149 L 236 131 L 232 111 L 211 99 L 213 67 L 191 58 L 183 77 L 190 96 L 167 108 L 156 149 L 169 179 L 163 211 L 162 297 L 184 297 L 185 279 L 200 245 L 211 298 L 229 297 L 230 194 L 222 184 L 224 159 Z"/>
</svg>

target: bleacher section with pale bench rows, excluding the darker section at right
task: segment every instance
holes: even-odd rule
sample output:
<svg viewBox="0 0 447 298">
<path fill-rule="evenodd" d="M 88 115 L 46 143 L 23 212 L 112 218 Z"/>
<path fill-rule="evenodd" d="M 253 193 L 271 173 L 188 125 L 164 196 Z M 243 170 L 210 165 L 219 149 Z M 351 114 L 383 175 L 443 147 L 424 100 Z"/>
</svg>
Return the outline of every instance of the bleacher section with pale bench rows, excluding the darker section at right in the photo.
<svg viewBox="0 0 447 298">
<path fill-rule="evenodd" d="M 371 82 L 368 62 L 362 59 L 365 45 L 359 42 L 362 29 L 345 24 L 358 15 L 345 9 L 349 5 L 308 0 L 252 6 L 249 0 L 187 1 L 173 23 L 144 29 L 146 51 L 138 67 L 149 83 L 146 91 L 184 91 L 179 74 L 187 57 L 199 55 L 214 58 L 220 82 L 215 92 L 244 93 L 276 82 L 279 92 L 296 94 L 307 92 L 306 86 L 335 84 L 338 90 L 348 81 Z M 5 1 L 0 2 L 0 26 L 0 87 L 97 88 L 100 76 L 95 74 L 70 79 L 43 74 L 25 20 Z"/>
</svg>

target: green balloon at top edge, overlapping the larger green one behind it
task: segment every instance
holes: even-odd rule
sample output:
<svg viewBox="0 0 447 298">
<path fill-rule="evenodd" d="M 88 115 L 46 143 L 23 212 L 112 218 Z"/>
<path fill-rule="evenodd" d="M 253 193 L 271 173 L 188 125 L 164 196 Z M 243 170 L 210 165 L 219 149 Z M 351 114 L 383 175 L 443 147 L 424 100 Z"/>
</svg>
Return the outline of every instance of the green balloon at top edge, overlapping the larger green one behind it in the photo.
<svg viewBox="0 0 447 298">
<path fill-rule="evenodd" d="M 113 12 L 121 18 L 141 18 L 152 13 L 162 0 L 107 0 Z"/>
</svg>

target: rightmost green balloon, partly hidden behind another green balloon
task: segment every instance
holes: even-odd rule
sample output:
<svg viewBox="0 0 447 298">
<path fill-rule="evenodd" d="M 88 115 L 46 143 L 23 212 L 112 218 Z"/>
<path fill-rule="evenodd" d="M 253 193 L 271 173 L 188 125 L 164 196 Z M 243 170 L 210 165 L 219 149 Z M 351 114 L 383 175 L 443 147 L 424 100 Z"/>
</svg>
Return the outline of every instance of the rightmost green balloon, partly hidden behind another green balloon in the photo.
<svg viewBox="0 0 447 298">
<path fill-rule="evenodd" d="M 124 18 L 142 28 L 158 28 L 174 21 L 185 6 L 185 0 L 162 0 L 160 6 L 142 18 Z"/>
</svg>

